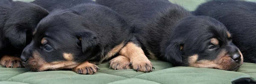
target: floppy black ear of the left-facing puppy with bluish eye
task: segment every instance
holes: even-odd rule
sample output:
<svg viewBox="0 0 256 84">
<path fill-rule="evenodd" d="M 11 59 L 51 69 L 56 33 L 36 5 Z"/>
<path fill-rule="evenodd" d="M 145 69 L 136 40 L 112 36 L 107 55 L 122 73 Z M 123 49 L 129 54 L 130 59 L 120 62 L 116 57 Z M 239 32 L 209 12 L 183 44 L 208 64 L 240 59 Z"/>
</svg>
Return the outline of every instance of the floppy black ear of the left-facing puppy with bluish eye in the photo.
<svg viewBox="0 0 256 84">
<path fill-rule="evenodd" d="M 86 30 L 85 32 L 79 33 L 78 38 L 81 41 L 81 47 L 84 53 L 99 49 L 99 38 L 96 33 Z"/>
</svg>

